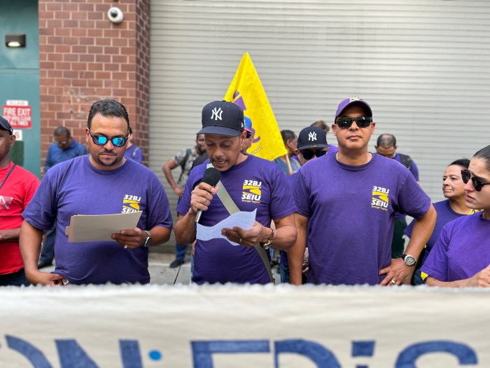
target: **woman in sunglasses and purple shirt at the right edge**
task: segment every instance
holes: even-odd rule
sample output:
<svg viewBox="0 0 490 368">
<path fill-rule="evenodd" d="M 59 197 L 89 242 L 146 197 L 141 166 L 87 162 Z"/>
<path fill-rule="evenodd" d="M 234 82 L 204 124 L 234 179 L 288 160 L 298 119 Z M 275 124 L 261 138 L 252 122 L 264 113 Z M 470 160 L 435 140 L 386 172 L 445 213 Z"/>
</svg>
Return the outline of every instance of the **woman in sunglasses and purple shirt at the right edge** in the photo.
<svg viewBox="0 0 490 368">
<path fill-rule="evenodd" d="M 490 287 L 490 146 L 461 170 L 466 206 L 482 212 L 449 222 L 421 271 L 429 286 Z"/>
</svg>

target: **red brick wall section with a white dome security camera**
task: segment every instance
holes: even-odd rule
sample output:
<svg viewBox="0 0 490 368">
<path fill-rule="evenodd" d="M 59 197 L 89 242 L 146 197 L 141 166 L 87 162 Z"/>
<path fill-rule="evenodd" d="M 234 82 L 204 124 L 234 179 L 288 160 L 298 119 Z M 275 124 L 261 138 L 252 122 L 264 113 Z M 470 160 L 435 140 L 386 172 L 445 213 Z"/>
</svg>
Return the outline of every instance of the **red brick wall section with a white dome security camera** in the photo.
<svg viewBox="0 0 490 368">
<path fill-rule="evenodd" d="M 39 0 L 41 166 L 64 125 L 85 144 L 93 102 L 111 98 L 130 114 L 134 144 L 148 153 L 150 0 Z M 124 20 L 107 18 L 118 6 Z"/>
</svg>

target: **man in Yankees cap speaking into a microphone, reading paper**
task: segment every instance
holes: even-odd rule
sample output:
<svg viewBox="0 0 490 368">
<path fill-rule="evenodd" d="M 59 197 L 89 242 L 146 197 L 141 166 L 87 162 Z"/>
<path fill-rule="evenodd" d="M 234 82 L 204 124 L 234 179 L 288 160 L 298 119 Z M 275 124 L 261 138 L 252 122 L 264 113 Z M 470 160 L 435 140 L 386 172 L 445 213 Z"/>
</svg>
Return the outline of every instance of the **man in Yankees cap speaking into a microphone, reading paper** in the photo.
<svg viewBox="0 0 490 368">
<path fill-rule="evenodd" d="M 193 282 L 266 284 L 270 281 L 269 273 L 260 257 L 261 250 L 254 245 L 284 250 L 296 240 L 295 209 L 286 176 L 278 165 L 240 152 L 247 132 L 244 113 L 236 104 L 225 101 L 207 104 L 202 109 L 202 130 L 197 134 L 204 134 L 209 161 L 221 172 L 221 182 L 216 186 L 202 182 L 206 165 L 190 172 L 177 206 L 177 242 L 185 246 L 195 240 L 198 211 L 202 211 L 199 223 L 203 226 L 214 226 L 230 216 L 219 195 L 216 196 L 223 189 L 239 210 L 257 210 L 257 214 L 251 229 L 235 226 L 221 229 L 224 238 L 197 240 Z M 275 230 L 270 229 L 272 220 Z"/>
</svg>

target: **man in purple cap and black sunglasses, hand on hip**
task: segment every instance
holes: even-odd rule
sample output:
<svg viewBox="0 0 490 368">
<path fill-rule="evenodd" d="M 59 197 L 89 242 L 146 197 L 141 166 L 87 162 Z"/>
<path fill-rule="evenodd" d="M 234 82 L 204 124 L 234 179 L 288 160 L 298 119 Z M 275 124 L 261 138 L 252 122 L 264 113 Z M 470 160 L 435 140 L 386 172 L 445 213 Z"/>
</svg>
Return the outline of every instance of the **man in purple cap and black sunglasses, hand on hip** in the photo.
<svg viewBox="0 0 490 368">
<path fill-rule="evenodd" d="M 297 173 L 297 242 L 288 250 L 292 284 L 301 284 L 306 243 L 308 282 L 409 284 L 436 214 L 407 168 L 367 151 L 374 125 L 367 102 L 357 97 L 340 102 L 332 125 L 339 151 Z M 395 211 L 416 219 L 416 236 L 401 259 L 391 259 Z"/>
</svg>

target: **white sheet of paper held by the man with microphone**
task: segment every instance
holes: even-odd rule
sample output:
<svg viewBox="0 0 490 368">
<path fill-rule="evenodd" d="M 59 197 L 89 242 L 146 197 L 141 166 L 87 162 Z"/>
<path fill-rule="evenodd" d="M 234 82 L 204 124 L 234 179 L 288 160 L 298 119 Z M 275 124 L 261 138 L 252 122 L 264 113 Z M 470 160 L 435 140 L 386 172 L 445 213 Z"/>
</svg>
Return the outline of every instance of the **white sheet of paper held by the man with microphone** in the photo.
<svg viewBox="0 0 490 368">
<path fill-rule="evenodd" d="M 221 229 L 233 229 L 235 226 L 238 226 L 241 229 L 248 230 L 252 227 L 253 222 L 255 222 L 255 215 L 257 214 L 257 210 L 253 210 L 252 212 L 239 211 L 234 214 L 230 214 L 229 217 L 218 222 L 218 224 L 214 226 L 203 226 L 201 224 L 197 224 L 197 234 L 196 238 L 198 240 L 211 240 L 211 239 L 225 239 L 231 245 L 239 245 L 238 243 L 232 242 L 228 240 L 225 236 L 221 235 Z"/>
</svg>

